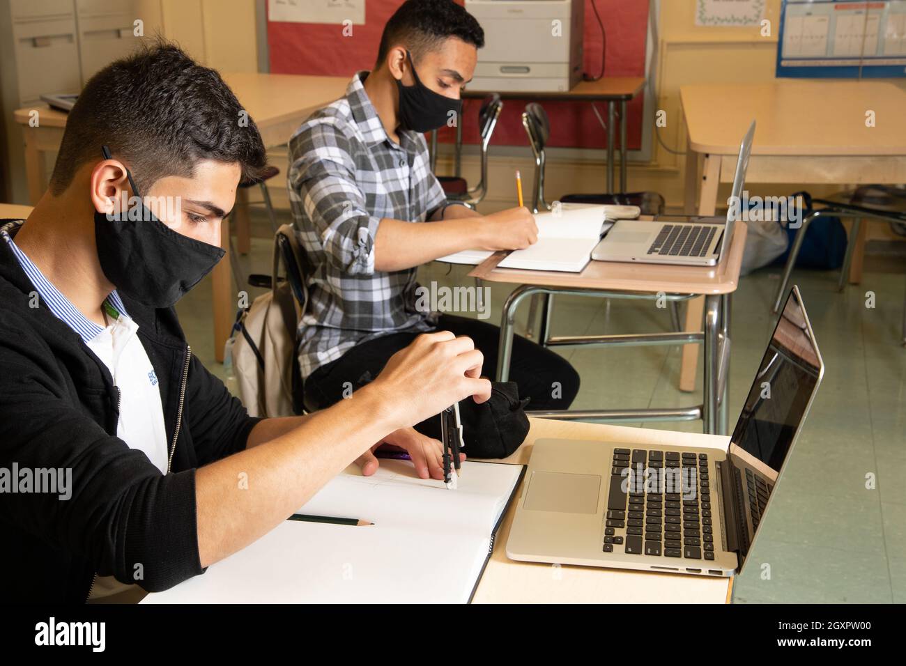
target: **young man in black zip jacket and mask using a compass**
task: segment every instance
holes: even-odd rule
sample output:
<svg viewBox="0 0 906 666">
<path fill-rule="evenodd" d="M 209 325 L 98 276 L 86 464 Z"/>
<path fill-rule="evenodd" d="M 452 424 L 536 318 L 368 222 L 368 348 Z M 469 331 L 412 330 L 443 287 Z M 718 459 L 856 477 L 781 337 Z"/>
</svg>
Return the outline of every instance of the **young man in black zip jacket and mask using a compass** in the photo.
<svg viewBox="0 0 906 666">
<path fill-rule="evenodd" d="M 309 417 L 251 419 L 198 362 L 170 306 L 222 256 L 236 187 L 265 166 L 241 111 L 176 47 L 112 63 L 72 109 L 49 191 L 27 220 L 0 220 L 4 602 L 132 601 L 178 584 L 376 442 L 442 478 L 439 448 L 410 426 L 490 394 L 481 353 L 449 332 Z"/>
</svg>

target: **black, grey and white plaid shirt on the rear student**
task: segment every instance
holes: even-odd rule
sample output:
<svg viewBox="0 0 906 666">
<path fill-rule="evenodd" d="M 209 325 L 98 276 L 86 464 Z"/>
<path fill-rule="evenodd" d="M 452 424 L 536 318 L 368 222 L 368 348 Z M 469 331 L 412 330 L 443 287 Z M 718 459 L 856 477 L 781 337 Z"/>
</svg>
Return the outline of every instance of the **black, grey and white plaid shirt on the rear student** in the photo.
<svg viewBox="0 0 906 666">
<path fill-rule="evenodd" d="M 381 218 L 424 222 L 446 205 L 423 135 L 390 140 L 357 72 L 341 99 L 316 111 L 289 142 L 294 225 L 310 263 L 300 322 L 304 378 L 352 346 L 400 331 L 433 330 L 415 307 L 416 269 L 374 270 Z"/>
</svg>

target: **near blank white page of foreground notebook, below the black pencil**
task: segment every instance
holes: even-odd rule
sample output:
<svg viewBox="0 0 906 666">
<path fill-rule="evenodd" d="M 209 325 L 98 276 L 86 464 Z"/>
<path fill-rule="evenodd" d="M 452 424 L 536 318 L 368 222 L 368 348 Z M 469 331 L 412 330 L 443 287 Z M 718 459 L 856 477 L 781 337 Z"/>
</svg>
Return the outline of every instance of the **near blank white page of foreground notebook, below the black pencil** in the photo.
<svg viewBox="0 0 906 666">
<path fill-rule="evenodd" d="M 287 520 L 142 603 L 466 603 L 487 556 L 450 532 Z"/>
</svg>

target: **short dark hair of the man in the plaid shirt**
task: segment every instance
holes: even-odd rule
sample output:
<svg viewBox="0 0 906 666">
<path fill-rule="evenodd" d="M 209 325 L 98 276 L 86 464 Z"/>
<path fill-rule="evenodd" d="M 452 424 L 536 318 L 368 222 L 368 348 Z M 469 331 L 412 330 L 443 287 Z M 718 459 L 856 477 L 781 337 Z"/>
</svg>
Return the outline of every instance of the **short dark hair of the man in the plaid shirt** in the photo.
<svg viewBox="0 0 906 666">
<path fill-rule="evenodd" d="M 485 45 L 485 31 L 475 16 L 453 0 L 406 0 L 384 26 L 376 66 L 381 66 L 395 44 L 406 44 L 412 57 L 419 58 L 449 37 L 477 49 Z"/>
</svg>

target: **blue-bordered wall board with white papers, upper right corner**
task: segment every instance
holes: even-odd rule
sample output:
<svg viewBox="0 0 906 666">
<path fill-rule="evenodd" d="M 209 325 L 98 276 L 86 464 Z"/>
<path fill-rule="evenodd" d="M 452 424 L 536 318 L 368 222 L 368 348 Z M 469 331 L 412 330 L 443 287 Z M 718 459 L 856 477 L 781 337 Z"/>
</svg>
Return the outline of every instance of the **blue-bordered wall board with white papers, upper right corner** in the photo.
<svg viewBox="0 0 906 666">
<path fill-rule="evenodd" d="M 777 76 L 906 76 L 906 0 L 784 0 Z"/>
</svg>

